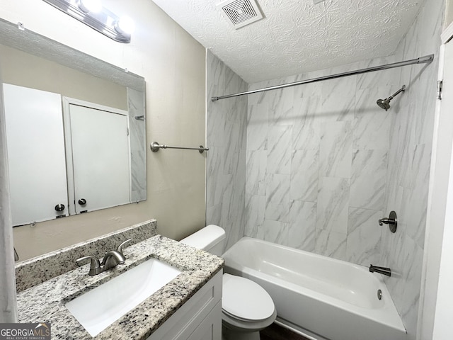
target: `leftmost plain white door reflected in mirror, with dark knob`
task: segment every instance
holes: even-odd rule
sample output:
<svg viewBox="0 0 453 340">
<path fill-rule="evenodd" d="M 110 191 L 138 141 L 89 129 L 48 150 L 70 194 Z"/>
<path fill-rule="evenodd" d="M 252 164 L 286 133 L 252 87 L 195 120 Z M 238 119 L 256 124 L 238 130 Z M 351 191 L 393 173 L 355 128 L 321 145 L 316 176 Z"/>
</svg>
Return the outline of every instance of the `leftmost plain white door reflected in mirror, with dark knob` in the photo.
<svg viewBox="0 0 453 340">
<path fill-rule="evenodd" d="M 13 225 L 67 215 L 61 96 L 4 84 L 4 106 Z"/>
</svg>

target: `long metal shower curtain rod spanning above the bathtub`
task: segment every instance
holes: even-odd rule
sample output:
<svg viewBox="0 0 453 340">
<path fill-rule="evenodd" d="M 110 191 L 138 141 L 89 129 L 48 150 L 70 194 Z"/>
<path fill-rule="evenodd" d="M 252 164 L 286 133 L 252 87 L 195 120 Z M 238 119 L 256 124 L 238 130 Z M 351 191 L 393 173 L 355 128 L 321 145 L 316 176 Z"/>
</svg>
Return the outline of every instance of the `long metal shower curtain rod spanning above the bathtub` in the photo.
<svg viewBox="0 0 453 340">
<path fill-rule="evenodd" d="M 297 85 L 309 84 L 309 83 L 316 83 L 316 81 L 323 81 L 323 80 L 328 80 L 328 79 L 355 76 L 356 74 L 362 74 L 362 73 L 368 73 L 368 72 L 374 72 L 374 71 L 382 71 L 383 69 L 393 69 L 395 67 L 403 67 L 403 66 L 412 65 L 412 64 L 430 64 L 432 62 L 432 60 L 434 60 L 434 55 L 425 55 L 424 57 L 420 57 L 420 58 L 416 58 L 416 59 L 412 59 L 412 60 L 406 60 L 404 62 L 394 62 L 392 64 L 368 67 L 367 69 L 357 69 L 356 71 L 332 74 L 331 76 L 324 76 L 324 77 L 319 77 L 319 78 L 306 79 L 306 80 L 302 80 L 302 81 L 295 81 L 294 83 L 270 86 L 270 87 L 265 87 L 264 89 L 240 92 L 239 94 L 227 94 L 226 96 L 211 97 L 211 100 L 218 101 L 219 99 L 244 96 L 246 94 L 256 94 L 258 92 L 265 92 L 265 91 L 270 91 L 270 90 L 285 89 L 285 87 L 291 87 L 291 86 L 297 86 Z"/>
</svg>

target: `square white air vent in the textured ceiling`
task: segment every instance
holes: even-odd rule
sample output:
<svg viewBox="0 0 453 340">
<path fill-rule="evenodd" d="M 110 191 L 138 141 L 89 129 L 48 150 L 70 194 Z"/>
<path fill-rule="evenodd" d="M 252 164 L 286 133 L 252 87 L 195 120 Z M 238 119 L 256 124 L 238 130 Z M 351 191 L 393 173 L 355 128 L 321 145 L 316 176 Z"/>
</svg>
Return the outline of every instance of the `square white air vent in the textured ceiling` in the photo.
<svg viewBox="0 0 453 340">
<path fill-rule="evenodd" d="M 226 0 L 216 6 L 222 9 L 224 16 L 236 29 L 263 18 L 258 4 L 253 0 Z"/>
</svg>

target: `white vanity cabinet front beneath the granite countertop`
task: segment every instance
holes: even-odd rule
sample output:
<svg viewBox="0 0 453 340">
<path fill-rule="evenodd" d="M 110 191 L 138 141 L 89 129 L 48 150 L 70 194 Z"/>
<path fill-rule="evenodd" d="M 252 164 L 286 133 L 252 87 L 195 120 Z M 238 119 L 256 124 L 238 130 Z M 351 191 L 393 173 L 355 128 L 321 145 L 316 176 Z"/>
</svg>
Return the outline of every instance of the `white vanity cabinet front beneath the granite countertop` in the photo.
<svg viewBox="0 0 453 340">
<path fill-rule="evenodd" d="M 190 297 L 147 340 L 221 340 L 222 271 Z"/>
</svg>

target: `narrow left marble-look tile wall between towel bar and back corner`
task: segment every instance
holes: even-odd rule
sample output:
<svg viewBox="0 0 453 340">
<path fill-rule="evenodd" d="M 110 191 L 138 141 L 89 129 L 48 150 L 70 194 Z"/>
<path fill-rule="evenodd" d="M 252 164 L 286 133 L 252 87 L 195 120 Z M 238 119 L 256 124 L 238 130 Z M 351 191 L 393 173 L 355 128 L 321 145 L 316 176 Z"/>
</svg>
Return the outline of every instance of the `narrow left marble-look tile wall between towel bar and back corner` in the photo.
<svg viewBox="0 0 453 340">
<path fill-rule="evenodd" d="M 227 249 L 245 227 L 247 96 L 212 102 L 212 96 L 247 91 L 245 81 L 207 50 L 206 223 L 226 231 Z"/>
</svg>

